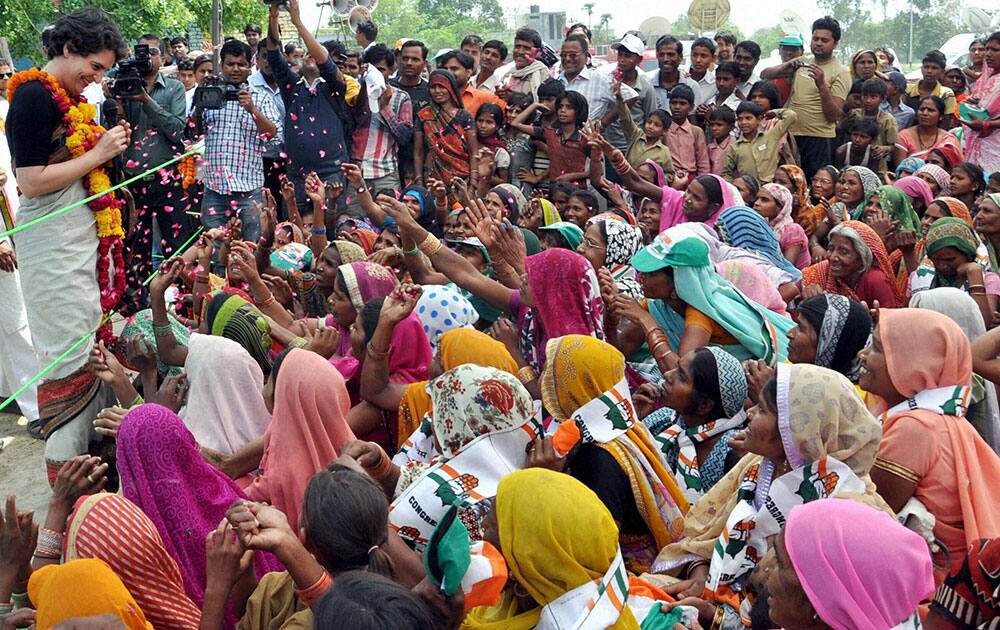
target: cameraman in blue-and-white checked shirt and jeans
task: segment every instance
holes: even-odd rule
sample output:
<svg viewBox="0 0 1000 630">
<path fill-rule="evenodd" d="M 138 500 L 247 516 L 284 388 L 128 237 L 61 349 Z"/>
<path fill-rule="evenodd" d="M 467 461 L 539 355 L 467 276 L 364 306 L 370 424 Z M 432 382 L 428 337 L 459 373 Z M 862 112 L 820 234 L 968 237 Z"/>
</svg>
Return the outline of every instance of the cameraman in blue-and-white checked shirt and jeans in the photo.
<svg viewBox="0 0 1000 630">
<path fill-rule="evenodd" d="M 247 84 L 253 57 L 249 46 L 229 40 L 219 57 L 225 102 L 219 109 L 206 109 L 195 98 L 195 127 L 205 134 L 201 221 L 206 228 L 220 227 L 238 215 L 243 238 L 256 241 L 260 238 L 257 206 L 264 186 L 262 158 L 272 143 L 281 141 L 281 117 L 268 94 Z"/>
</svg>

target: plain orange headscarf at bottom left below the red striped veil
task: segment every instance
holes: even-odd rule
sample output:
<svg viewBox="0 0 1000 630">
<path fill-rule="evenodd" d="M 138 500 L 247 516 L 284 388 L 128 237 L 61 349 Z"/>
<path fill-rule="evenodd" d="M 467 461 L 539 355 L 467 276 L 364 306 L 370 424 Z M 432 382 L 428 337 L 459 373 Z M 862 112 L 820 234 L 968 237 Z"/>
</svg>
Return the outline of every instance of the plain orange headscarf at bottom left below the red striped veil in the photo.
<svg viewBox="0 0 1000 630">
<path fill-rule="evenodd" d="M 48 630 L 67 619 L 114 615 L 129 630 L 153 630 L 128 589 L 103 560 L 50 564 L 31 574 L 28 597 L 35 625 Z"/>
</svg>

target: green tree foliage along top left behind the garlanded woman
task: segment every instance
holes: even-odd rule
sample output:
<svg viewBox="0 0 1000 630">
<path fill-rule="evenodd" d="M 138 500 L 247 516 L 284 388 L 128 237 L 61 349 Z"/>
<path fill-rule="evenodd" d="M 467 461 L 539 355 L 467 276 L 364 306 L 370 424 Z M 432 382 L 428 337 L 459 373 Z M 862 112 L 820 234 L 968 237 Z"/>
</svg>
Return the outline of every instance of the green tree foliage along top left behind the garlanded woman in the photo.
<svg viewBox="0 0 1000 630">
<path fill-rule="evenodd" d="M 192 23 L 209 32 L 212 17 L 211 0 L 63 0 L 58 8 L 48 0 L 5 0 L 0 33 L 8 38 L 11 54 L 41 61 L 41 29 L 61 14 L 85 6 L 107 11 L 132 41 L 143 33 L 186 32 Z M 247 22 L 260 23 L 266 17 L 263 4 L 223 0 L 223 32 L 239 32 Z"/>
</svg>

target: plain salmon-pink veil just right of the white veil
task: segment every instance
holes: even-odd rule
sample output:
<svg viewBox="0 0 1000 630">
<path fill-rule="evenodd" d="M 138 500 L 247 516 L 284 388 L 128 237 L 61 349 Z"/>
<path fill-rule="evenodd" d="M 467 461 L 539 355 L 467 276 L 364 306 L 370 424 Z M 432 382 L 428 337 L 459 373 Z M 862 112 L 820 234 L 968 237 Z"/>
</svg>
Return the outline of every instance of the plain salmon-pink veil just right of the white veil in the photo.
<svg viewBox="0 0 1000 630">
<path fill-rule="evenodd" d="M 337 459 L 344 442 L 355 439 L 347 424 L 351 397 L 337 368 L 309 350 L 289 351 L 272 378 L 274 413 L 260 461 L 264 474 L 246 493 L 278 508 L 297 527 L 309 479 Z"/>
</svg>

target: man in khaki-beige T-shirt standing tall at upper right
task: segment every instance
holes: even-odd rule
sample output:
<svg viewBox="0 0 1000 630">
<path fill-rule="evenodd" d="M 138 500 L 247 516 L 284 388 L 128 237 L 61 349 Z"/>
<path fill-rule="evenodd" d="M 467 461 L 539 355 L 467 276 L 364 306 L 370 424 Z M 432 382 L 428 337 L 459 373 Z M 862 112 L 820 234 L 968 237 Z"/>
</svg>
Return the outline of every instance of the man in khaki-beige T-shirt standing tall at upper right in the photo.
<svg viewBox="0 0 1000 630">
<path fill-rule="evenodd" d="M 830 16 L 822 17 L 812 26 L 812 61 L 797 57 L 760 75 L 768 80 L 792 77 L 788 108 L 797 117 L 791 131 L 809 180 L 817 170 L 833 162 L 837 121 L 844 113 L 844 99 L 851 89 L 850 72 L 833 56 L 839 41 L 840 23 Z"/>
</svg>

